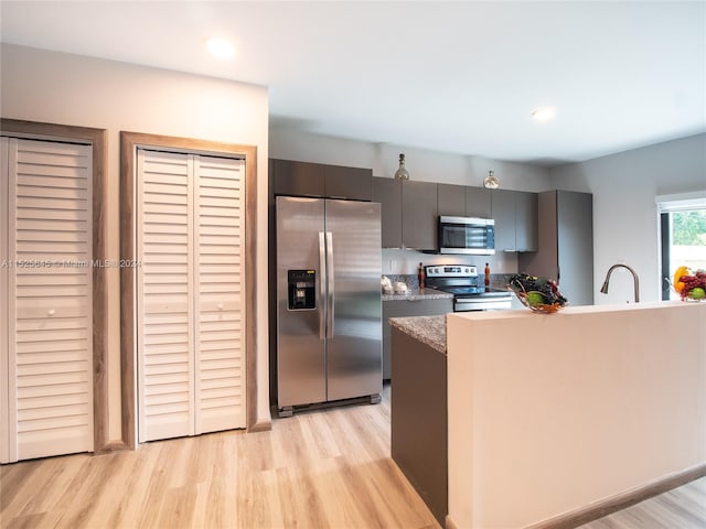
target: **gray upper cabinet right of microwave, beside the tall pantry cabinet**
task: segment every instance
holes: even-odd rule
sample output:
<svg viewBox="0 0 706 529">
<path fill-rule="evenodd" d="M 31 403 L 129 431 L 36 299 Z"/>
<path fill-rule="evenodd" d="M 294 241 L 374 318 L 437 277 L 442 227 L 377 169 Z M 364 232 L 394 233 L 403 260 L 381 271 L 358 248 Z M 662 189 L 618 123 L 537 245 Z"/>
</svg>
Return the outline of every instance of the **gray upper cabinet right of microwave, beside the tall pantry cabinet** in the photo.
<svg viewBox="0 0 706 529">
<path fill-rule="evenodd" d="M 537 249 L 537 194 L 491 191 L 491 216 L 495 220 L 495 250 Z"/>
</svg>

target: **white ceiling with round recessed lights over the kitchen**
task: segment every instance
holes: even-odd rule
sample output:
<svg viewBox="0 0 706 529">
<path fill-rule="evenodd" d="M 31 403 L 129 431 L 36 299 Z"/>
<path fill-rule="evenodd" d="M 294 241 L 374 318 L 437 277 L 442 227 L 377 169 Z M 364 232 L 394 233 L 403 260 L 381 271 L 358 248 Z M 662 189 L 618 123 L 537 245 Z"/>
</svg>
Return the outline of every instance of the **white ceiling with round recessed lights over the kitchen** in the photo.
<svg viewBox="0 0 706 529">
<path fill-rule="evenodd" d="M 706 131 L 705 0 L 0 10 L 2 42 L 265 85 L 274 128 L 543 165 Z M 210 57 L 212 35 L 236 57 Z"/>
</svg>

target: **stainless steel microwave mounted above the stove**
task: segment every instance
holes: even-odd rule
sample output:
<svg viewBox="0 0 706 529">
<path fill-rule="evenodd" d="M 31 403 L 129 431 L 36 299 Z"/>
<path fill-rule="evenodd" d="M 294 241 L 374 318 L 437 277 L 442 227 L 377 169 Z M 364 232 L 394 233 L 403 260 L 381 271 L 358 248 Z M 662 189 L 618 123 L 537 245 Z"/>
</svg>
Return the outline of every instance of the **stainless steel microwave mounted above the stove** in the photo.
<svg viewBox="0 0 706 529">
<path fill-rule="evenodd" d="M 439 217 L 439 253 L 490 256 L 495 253 L 495 220 L 477 217 Z"/>
</svg>

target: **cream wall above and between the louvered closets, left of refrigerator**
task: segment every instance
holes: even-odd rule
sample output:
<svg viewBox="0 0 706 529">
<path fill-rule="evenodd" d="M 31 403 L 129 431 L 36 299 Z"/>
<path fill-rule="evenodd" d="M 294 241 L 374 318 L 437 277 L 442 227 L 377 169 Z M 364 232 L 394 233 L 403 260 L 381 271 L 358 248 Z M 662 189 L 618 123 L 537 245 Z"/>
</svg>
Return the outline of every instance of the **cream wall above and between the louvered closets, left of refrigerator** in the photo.
<svg viewBox="0 0 706 529">
<path fill-rule="evenodd" d="M 268 95 L 264 87 L 2 44 L 3 118 L 108 131 L 107 257 L 119 256 L 121 130 L 257 147 L 258 230 L 267 233 Z M 267 270 L 267 238 L 257 242 Z M 109 435 L 120 438 L 119 271 L 108 270 Z M 269 421 L 267 281 L 257 289 L 258 421 Z"/>
</svg>

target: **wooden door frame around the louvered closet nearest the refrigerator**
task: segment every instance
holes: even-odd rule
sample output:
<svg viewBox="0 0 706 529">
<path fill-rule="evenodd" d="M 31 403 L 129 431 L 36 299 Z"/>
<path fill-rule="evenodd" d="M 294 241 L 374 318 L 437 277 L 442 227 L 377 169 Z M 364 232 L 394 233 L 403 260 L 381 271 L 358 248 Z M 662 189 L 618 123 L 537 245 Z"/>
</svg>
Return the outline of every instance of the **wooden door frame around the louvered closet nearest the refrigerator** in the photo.
<svg viewBox="0 0 706 529">
<path fill-rule="evenodd" d="M 257 302 L 255 284 L 257 281 L 256 241 L 257 241 L 257 147 L 222 143 L 192 138 L 178 138 L 141 132 L 120 131 L 120 260 L 132 262 L 136 253 L 137 205 L 136 190 L 136 150 L 138 147 L 158 148 L 171 151 L 193 152 L 226 158 L 245 158 L 245 406 L 246 428 L 249 431 L 261 430 L 257 424 Z M 129 449 L 137 445 L 136 417 L 137 400 L 135 392 L 135 269 L 120 268 L 120 367 L 121 367 L 121 407 L 122 440 Z"/>
</svg>

